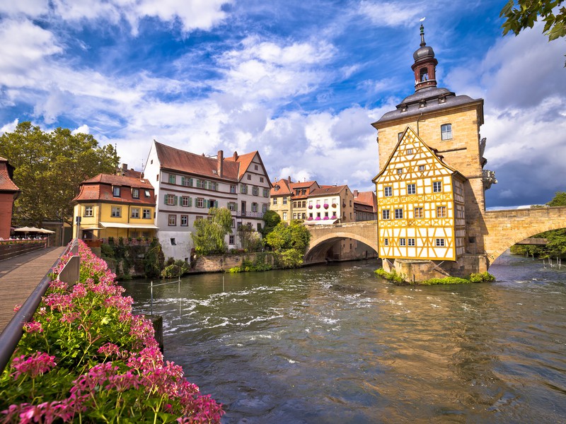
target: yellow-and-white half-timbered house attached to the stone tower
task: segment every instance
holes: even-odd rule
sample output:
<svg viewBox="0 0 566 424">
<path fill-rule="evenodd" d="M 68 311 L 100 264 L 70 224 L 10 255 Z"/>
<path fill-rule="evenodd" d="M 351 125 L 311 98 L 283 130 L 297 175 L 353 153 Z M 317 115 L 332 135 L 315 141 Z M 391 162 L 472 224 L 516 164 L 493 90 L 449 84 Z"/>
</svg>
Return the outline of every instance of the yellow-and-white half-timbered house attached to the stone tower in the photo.
<svg viewBox="0 0 566 424">
<path fill-rule="evenodd" d="M 464 181 L 463 175 L 443 163 L 407 126 L 386 165 L 374 178 L 379 256 L 455 261 L 463 254 Z M 415 217 L 415 208 L 422 211 L 421 218 Z M 399 210 L 402 218 L 395 218 Z M 383 211 L 389 211 L 389 218 Z"/>
</svg>

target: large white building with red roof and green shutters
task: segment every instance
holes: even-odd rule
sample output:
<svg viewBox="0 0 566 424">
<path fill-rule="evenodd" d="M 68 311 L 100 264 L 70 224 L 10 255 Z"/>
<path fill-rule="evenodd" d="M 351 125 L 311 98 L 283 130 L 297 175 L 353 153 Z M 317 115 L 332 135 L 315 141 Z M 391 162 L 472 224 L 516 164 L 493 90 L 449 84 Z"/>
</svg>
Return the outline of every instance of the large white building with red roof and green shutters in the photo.
<svg viewBox="0 0 566 424">
<path fill-rule="evenodd" d="M 190 257 L 193 224 L 206 218 L 209 208 L 232 212 L 233 232 L 226 237 L 231 249 L 239 246 L 236 228 L 259 230 L 270 203 L 270 179 L 258 151 L 209 157 L 154 141 L 144 177 L 155 187 L 155 223 L 166 258 Z"/>
</svg>

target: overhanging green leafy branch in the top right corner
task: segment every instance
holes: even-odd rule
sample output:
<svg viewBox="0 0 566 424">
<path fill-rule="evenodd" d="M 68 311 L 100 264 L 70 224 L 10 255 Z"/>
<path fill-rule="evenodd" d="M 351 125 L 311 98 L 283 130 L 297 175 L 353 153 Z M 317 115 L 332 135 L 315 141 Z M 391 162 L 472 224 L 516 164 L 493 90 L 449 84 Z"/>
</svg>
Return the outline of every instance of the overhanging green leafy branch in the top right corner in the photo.
<svg viewBox="0 0 566 424">
<path fill-rule="evenodd" d="M 517 8 L 515 8 L 515 2 Z M 503 35 L 512 31 L 518 35 L 521 30 L 533 28 L 538 16 L 545 22 L 543 33 L 548 36 L 548 41 L 556 40 L 566 35 L 566 7 L 558 6 L 563 0 L 509 0 L 502 8 L 499 16 L 505 18 L 503 23 Z M 553 9 L 558 13 L 554 14 Z M 566 64 L 565 64 L 566 66 Z"/>
</svg>

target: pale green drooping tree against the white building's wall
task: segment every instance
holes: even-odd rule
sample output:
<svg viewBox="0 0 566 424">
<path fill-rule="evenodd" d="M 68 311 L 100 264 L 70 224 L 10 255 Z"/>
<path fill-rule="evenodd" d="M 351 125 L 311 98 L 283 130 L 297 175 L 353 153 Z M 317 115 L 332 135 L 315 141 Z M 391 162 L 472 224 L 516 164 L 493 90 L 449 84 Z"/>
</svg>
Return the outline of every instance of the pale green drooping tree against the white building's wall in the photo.
<svg viewBox="0 0 566 424">
<path fill-rule="evenodd" d="M 195 220 L 191 234 L 197 254 L 222 254 L 228 250 L 226 235 L 232 231 L 232 214 L 228 208 L 210 208 L 208 219 Z"/>
</svg>

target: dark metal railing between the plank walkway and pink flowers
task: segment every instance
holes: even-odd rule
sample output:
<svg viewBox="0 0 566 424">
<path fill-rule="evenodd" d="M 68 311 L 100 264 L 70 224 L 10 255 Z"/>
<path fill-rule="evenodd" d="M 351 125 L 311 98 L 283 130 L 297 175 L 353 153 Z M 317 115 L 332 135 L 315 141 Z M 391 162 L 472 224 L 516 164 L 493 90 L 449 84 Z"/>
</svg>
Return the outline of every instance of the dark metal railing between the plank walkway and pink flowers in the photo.
<svg viewBox="0 0 566 424">
<path fill-rule="evenodd" d="M 76 239 L 69 242 L 69 245 L 67 245 L 67 248 L 64 250 L 61 257 L 69 252 L 78 252 Z M 54 262 L 51 269 L 59 265 L 61 257 Z M 43 295 L 45 295 L 51 281 L 52 278 L 50 276 L 50 272 L 47 272 L 35 290 L 33 290 L 29 298 L 25 300 L 21 308 L 13 316 L 4 331 L 0 334 L 0 373 L 4 372 L 4 368 L 10 361 L 13 351 L 16 350 L 16 346 L 18 346 L 18 343 L 22 338 L 23 325 L 26 322 L 30 322 L 32 319 L 33 314 L 35 314 L 37 307 L 40 305 L 41 299 Z"/>
</svg>

